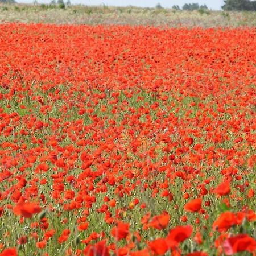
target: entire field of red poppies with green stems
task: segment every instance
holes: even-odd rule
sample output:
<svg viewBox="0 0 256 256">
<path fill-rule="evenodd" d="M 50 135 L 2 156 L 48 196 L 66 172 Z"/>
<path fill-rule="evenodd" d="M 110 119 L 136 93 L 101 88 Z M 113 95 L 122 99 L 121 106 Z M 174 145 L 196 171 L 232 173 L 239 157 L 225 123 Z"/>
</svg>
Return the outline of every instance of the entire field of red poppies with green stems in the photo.
<svg viewBox="0 0 256 256">
<path fill-rule="evenodd" d="M 0 24 L 0 255 L 256 255 L 255 28 Z"/>
</svg>

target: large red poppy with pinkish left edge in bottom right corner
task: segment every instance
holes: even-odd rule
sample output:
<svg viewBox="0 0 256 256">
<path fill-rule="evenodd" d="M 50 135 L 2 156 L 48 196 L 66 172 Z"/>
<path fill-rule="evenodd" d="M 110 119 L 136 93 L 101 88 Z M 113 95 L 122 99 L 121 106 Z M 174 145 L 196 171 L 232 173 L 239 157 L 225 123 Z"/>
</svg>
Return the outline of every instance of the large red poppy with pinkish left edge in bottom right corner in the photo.
<svg viewBox="0 0 256 256">
<path fill-rule="evenodd" d="M 253 253 L 256 251 L 256 241 L 247 234 L 238 234 L 237 236 L 227 238 L 223 243 L 223 247 L 226 255 L 233 255 L 240 251 Z"/>
</svg>

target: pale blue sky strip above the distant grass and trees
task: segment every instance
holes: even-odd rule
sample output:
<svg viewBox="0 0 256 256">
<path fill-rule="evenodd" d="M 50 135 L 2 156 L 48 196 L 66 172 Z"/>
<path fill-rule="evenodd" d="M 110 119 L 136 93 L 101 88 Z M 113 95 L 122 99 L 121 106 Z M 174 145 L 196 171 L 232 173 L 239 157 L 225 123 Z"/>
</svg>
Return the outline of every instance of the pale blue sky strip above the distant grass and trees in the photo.
<svg viewBox="0 0 256 256">
<path fill-rule="evenodd" d="M 37 0 L 38 3 L 50 3 L 51 0 Z M 107 6 L 138 6 L 138 7 L 155 7 L 157 3 L 165 8 L 171 8 L 173 5 L 182 7 L 185 3 L 199 3 L 207 5 L 209 9 L 220 10 L 224 5 L 223 0 L 70 0 L 73 4 L 82 5 L 107 5 Z M 17 2 L 30 3 L 33 0 L 17 0 Z M 64 0 L 65 2 L 65 0 Z"/>
</svg>

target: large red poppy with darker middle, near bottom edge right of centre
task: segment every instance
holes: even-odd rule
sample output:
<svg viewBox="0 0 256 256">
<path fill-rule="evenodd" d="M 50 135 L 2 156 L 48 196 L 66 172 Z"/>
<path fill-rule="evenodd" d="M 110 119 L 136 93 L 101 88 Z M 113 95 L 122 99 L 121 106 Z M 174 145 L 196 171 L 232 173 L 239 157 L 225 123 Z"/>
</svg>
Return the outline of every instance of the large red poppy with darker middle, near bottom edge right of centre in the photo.
<svg viewBox="0 0 256 256">
<path fill-rule="evenodd" d="M 166 243 L 169 247 L 178 246 L 179 243 L 189 238 L 192 232 L 193 228 L 191 225 L 176 226 L 176 228 L 170 230 L 168 236 L 166 237 Z"/>
</svg>

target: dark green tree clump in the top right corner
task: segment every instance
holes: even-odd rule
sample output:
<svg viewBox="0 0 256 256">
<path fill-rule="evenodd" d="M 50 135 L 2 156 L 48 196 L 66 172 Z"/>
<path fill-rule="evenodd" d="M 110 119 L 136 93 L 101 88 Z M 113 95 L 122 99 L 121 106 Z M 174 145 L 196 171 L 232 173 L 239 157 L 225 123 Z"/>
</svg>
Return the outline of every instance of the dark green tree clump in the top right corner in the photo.
<svg viewBox="0 0 256 256">
<path fill-rule="evenodd" d="M 256 1 L 249 0 L 224 0 L 225 11 L 256 11 Z"/>
</svg>

